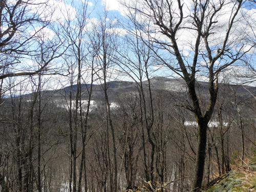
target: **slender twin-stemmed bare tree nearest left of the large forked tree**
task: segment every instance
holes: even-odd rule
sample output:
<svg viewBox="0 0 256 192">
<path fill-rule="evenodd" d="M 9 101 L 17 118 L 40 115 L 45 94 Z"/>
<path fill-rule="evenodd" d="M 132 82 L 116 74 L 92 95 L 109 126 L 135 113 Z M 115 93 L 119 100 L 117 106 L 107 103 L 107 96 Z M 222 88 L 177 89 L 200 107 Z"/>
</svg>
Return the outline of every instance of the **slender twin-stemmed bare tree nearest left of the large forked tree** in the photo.
<svg viewBox="0 0 256 192">
<path fill-rule="evenodd" d="M 153 44 L 149 39 L 143 39 L 143 27 L 148 22 L 137 22 L 136 14 L 128 14 L 129 20 L 122 27 L 127 34 L 123 37 L 124 44 L 116 49 L 119 54 L 117 65 L 122 73 L 136 83 L 140 109 L 141 142 L 143 151 L 143 166 L 146 181 L 154 182 L 154 163 L 156 153 L 156 135 L 154 133 L 154 104 L 151 87 L 151 68 L 155 61 Z M 127 49 L 128 48 L 128 49 Z M 147 153 L 147 142 L 150 143 L 150 152 Z M 158 151 L 159 152 L 159 151 Z M 127 186 L 133 187 L 133 186 Z"/>
</svg>

